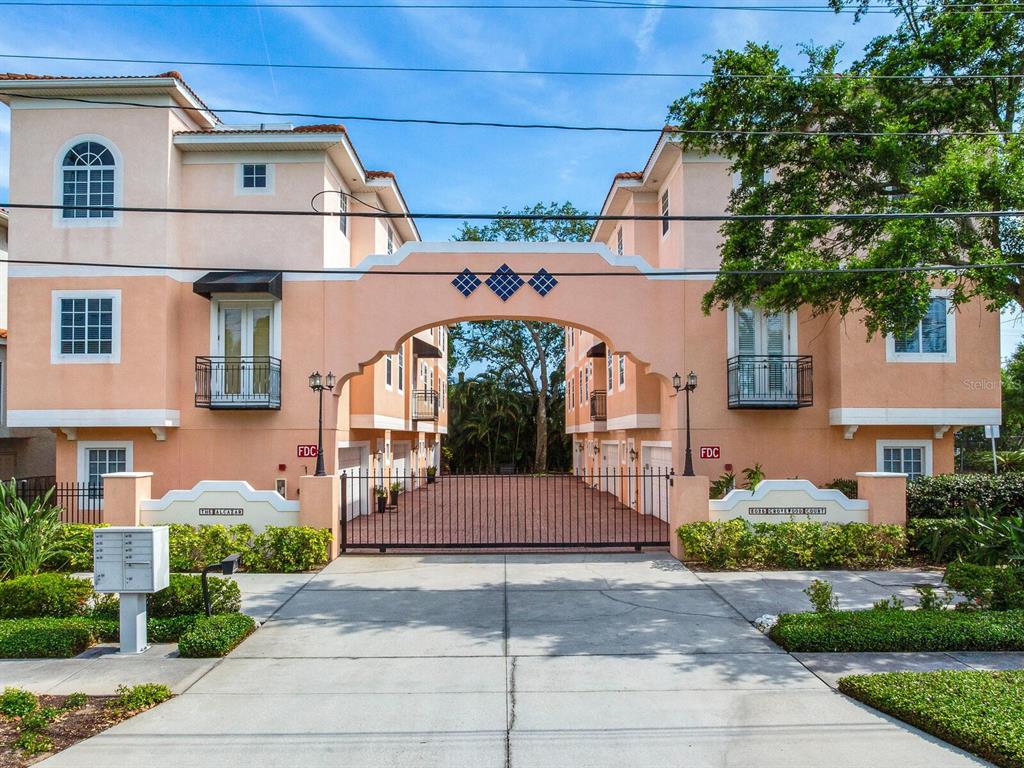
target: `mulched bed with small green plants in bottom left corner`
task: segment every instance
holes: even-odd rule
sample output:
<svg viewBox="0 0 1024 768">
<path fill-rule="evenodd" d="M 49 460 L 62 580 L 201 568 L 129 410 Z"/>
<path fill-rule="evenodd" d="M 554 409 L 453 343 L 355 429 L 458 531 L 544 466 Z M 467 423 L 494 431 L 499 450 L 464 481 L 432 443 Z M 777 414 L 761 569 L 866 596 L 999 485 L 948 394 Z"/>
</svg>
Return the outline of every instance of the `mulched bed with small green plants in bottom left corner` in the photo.
<svg viewBox="0 0 1024 768">
<path fill-rule="evenodd" d="M 24 768 L 171 697 L 163 685 L 122 687 L 113 696 L 0 694 L 0 768 Z M 7 714 L 9 713 L 9 714 Z M 15 714 L 16 713 L 16 714 Z"/>
</svg>

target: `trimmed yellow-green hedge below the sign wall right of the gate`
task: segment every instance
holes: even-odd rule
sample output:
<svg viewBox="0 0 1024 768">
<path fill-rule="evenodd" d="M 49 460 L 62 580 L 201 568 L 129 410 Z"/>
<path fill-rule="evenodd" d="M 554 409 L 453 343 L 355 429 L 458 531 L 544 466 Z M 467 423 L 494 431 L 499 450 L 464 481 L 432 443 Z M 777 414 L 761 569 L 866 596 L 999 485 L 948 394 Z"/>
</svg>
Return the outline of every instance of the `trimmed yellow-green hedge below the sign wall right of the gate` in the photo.
<svg viewBox="0 0 1024 768">
<path fill-rule="evenodd" d="M 850 522 L 689 522 L 676 531 L 685 557 L 713 568 L 884 568 L 906 555 L 899 525 Z"/>
</svg>

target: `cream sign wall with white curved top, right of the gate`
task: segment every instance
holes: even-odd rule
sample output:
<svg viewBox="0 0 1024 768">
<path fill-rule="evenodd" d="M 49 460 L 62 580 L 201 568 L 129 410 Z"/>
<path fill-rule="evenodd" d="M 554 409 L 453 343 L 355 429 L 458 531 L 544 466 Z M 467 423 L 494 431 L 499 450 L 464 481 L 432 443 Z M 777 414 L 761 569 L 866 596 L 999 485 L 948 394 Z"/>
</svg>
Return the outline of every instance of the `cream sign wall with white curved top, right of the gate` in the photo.
<svg viewBox="0 0 1024 768">
<path fill-rule="evenodd" d="M 762 480 L 754 490 L 730 490 L 710 503 L 712 520 L 751 522 L 867 522 L 868 502 L 819 488 L 810 480 Z"/>
</svg>

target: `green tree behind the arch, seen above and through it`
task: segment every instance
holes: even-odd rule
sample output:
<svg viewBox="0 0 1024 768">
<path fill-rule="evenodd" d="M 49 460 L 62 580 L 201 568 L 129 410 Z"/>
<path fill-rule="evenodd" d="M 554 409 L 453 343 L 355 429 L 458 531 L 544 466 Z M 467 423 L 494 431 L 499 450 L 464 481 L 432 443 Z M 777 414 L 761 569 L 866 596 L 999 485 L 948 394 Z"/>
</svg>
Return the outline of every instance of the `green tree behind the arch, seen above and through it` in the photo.
<svg viewBox="0 0 1024 768">
<path fill-rule="evenodd" d="M 512 214 L 507 208 L 503 214 Z M 523 208 L 527 215 L 579 215 L 570 203 L 538 203 Z M 588 221 L 496 219 L 477 226 L 463 223 L 455 240 L 515 242 L 586 242 L 593 225 Z M 451 334 L 456 358 L 483 362 L 499 379 L 516 382 L 534 401 L 534 462 L 538 471 L 549 467 L 551 430 L 549 402 L 557 396 L 564 376 L 565 353 L 560 326 L 539 321 L 481 321 L 461 324 Z M 564 421 L 562 422 L 564 426 Z M 562 430 L 564 431 L 564 430 Z M 564 441 L 564 434 L 558 439 Z"/>
</svg>

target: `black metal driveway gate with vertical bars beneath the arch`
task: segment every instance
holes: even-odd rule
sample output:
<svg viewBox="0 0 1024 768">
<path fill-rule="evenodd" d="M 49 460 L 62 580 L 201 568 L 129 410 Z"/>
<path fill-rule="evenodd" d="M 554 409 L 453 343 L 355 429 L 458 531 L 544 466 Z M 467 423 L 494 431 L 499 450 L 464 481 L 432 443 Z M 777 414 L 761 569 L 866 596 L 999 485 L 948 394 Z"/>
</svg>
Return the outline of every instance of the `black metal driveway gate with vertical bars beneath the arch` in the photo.
<svg viewBox="0 0 1024 768">
<path fill-rule="evenodd" d="M 341 550 L 664 547 L 673 473 L 341 476 Z"/>
</svg>

